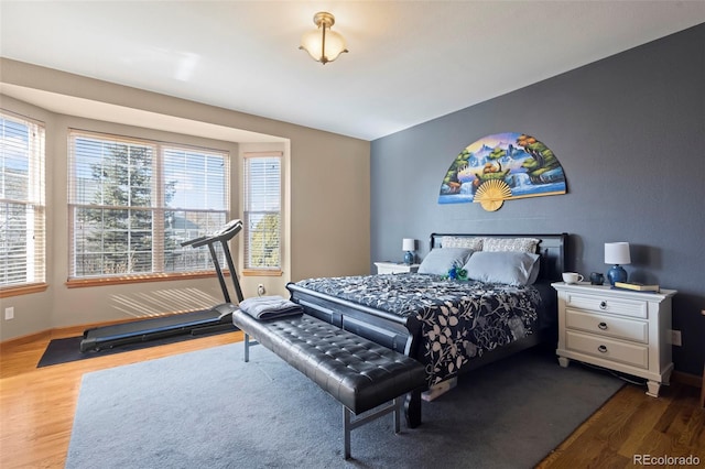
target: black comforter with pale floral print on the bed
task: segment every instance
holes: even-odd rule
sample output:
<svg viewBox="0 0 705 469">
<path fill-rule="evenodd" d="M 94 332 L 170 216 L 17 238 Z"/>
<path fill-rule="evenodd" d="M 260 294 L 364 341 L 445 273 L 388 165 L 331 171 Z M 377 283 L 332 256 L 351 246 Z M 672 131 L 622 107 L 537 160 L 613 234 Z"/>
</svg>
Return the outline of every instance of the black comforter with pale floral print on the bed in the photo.
<svg viewBox="0 0 705 469">
<path fill-rule="evenodd" d="M 429 385 L 473 357 L 532 334 L 541 304 L 532 286 L 459 282 L 429 274 L 310 279 L 297 285 L 402 317 L 415 315 L 424 340 L 417 359 Z"/>
</svg>

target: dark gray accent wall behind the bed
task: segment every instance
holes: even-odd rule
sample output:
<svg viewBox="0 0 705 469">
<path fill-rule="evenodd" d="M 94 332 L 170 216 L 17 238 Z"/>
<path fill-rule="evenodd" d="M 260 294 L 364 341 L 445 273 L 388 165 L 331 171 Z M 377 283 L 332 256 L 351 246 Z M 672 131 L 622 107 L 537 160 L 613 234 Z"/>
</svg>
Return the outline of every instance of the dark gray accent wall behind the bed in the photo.
<svg viewBox="0 0 705 469">
<path fill-rule="evenodd" d="M 438 205 L 455 156 L 501 132 L 553 150 L 567 194 L 507 200 L 495 212 Z M 373 141 L 371 261 L 401 260 L 402 238 L 420 240 L 423 255 L 431 232 L 568 232 L 568 269 L 584 274 L 607 271 L 605 242 L 630 242 L 630 280 L 679 291 L 675 368 L 701 374 L 705 24 Z"/>
</svg>

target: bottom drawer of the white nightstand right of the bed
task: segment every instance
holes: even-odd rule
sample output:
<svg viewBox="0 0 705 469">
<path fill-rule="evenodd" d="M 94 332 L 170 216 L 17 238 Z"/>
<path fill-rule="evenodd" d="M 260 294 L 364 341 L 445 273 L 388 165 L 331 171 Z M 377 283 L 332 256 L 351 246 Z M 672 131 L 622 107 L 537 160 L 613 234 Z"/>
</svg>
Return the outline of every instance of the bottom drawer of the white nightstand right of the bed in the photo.
<svg viewBox="0 0 705 469">
<path fill-rule="evenodd" d="M 649 347 L 566 330 L 566 348 L 581 353 L 649 369 Z"/>
</svg>

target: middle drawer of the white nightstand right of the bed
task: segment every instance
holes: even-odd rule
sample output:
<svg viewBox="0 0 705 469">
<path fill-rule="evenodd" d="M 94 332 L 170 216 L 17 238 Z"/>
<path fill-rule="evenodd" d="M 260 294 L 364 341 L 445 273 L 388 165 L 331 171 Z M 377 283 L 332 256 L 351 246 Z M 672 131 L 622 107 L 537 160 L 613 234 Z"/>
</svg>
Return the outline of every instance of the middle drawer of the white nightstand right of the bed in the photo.
<svg viewBox="0 0 705 469">
<path fill-rule="evenodd" d="M 583 313 L 565 309 L 565 327 L 579 329 L 599 336 L 616 337 L 618 339 L 634 340 L 649 343 L 649 323 L 626 319 L 611 315 Z"/>
</svg>

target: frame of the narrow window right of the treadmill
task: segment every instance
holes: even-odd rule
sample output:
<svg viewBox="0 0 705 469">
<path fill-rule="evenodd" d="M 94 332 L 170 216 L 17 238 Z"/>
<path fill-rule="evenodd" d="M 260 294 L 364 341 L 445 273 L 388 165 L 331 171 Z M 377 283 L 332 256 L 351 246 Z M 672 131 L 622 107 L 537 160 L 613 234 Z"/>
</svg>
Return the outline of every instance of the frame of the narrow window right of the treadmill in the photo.
<svg viewBox="0 0 705 469">
<path fill-rule="evenodd" d="M 279 233 L 278 233 L 278 257 L 279 265 L 270 268 L 259 268 L 249 265 L 249 252 L 250 252 L 250 227 L 249 227 L 249 214 L 253 211 L 250 207 L 251 201 L 251 171 L 248 166 L 250 161 L 257 159 L 276 159 L 279 161 L 279 210 L 275 212 L 279 216 Z M 284 153 L 281 151 L 263 151 L 263 152 L 245 152 L 242 154 L 242 275 L 243 276 L 281 276 L 283 274 L 283 233 L 284 233 L 284 212 L 283 212 L 283 173 L 284 173 Z M 269 210 L 272 211 L 272 210 Z"/>
</svg>

